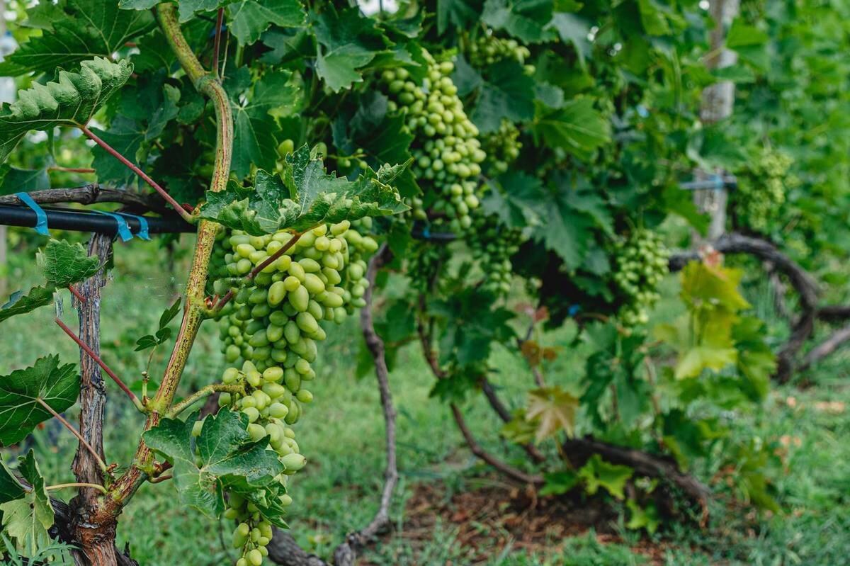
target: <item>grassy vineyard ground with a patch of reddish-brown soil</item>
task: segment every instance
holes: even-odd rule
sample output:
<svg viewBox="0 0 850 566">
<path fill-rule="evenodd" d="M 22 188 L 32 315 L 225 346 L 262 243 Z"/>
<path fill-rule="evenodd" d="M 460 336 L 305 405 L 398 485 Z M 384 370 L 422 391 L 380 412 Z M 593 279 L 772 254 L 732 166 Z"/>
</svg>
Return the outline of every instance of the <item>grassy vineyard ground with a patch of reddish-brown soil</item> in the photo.
<svg viewBox="0 0 850 566">
<path fill-rule="evenodd" d="M 128 382 L 139 380 L 145 356 L 133 354 L 136 337 L 156 329 L 160 310 L 170 300 L 161 251 L 133 243 L 118 246 L 116 273 L 104 293 L 103 357 Z M 33 269 L 32 272 L 26 269 Z M 31 264 L 12 280 L 26 287 L 37 281 Z M 178 269 L 178 272 L 180 269 Z M 185 270 L 184 270 L 185 272 Z M 144 296 L 139 296 L 139 283 Z M 671 283 L 673 285 L 673 283 Z M 76 323 L 65 297 L 64 319 Z M 665 309 L 660 309 L 665 316 Z M 77 349 L 60 336 L 54 313 L 45 308 L 31 318 L 9 320 L 0 342 L 3 373 L 31 363 L 45 351 L 71 361 Z M 567 332 L 569 334 L 569 331 Z M 291 525 L 304 547 L 327 554 L 350 529 L 365 524 L 377 506 L 382 483 L 382 417 L 371 375 L 355 380 L 354 359 L 360 336 L 353 320 L 329 332 L 324 354 L 316 365 L 314 405 L 300 426 L 299 443 L 311 464 L 294 484 Z M 564 342 L 568 336 L 561 337 Z M 218 374 L 214 325 L 207 325 L 192 354 L 188 375 L 201 381 Z M 513 376 L 525 374 L 518 362 L 496 352 L 504 368 L 496 382 L 506 395 Z M 157 376 L 166 348 L 156 352 L 150 374 Z M 580 367 L 581 351 L 562 351 L 563 375 Z M 575 373 L 575 371 L 573 372 Z M 394 529 L 367 552 L 364 564 L 544 564 L 601 566 L 621 564 L 806 564 L 847 563 L 850 556 L 850 357 L 838 355 L 810 377 L 813 388 L 777 388 L 757 415 L 733 415 L 736 433 L 778 441 L 785 472 L 775 475 L 784 513 L 759 517 L 723 498 L 712 505 L 708 529 L 681 524 L 648 537 L 623 527 L 624 506 L 600 501 L 571 505 L 569 501 L 532 501 L 527 494 L 493 478 L 463 447 L 444 405 L 428 399 L 432 378 L 414 347 L 403 349 L 390 379 L 399 410 L 399 496 L 393 507 Z M 561 375 L 560 372 L 558 375 Z M 552 377 L 553 380 L 556 378 Z M 514 382 L 518 388 L 524 383 Z M 565 385 L 569 385 L 565 382 Z M 138 387 L 138 383 L 137 383 Z M 188 386 L 187 386 L 188 387 Z M 107 384 L 111 389 L 111 384 Z M 493 432 L 498 427 L 479 403 L 467 407 L 468 421 L 490 450 L 505 450 Z M 76 417 L 76 415 L 71 415 Z M 111 395 L 107 407 L 105 449 L 110 461 L 127 462 L 141 418 L 124 398 Z M 58 448 L 53 447 L 53 445 Z M 51 483 L 72 481 L 66 467 L 75 444 L 63 430 L 48 423 L 33 446 Z M 501 452 L 504 453 L 504 452 Z M 9 457 L 4 451 L 4 457 Z M 522 462 L 522 453 L 508 458 Z M 706 482 L 714 475 L 711 462 L 697 473 Z M 71 494 L 63 494 L 65 498 Z M 224 524 L 189 515 L 167 485 L 146 485 L 127 509 L 119 529 L 119 546 L 131 542 L 133 557 L 142 564 L 212 566 L 225 563 L 232 552 L 210 537 Z M 608 509 L 606 511 L 606 509 Z M 188 518 L 190 517 L 190 518 Z M 309 518 L 309 519 L 308 519 Z M 173 523 L 172 520 L 176 521 Z M 178 524 L 178 529 L 173 529 Z M 141 539 L 134 534 L 144 533 Z M 219 541 L 220 539 L 220 541 Z M 230 557 L 230 558 L 228 558 Z"/>
</svg>

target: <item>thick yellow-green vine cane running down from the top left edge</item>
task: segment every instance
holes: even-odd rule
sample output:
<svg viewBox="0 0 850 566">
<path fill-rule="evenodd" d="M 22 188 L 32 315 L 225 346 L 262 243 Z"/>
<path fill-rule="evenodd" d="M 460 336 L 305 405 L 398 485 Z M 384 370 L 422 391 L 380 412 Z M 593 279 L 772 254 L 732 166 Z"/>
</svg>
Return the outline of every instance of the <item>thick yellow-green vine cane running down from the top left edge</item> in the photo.
<svg viewBox="0 0 850 566">
<path fill-rule="evenodd" d="M 177 56 L 186 76 L 189 77 L 198 92 L 211 99 L 215 108 L 216 150 L 210 190 L 214 192 L 224 190 L 229 178 L 230 160 L 233 155 L 233 115 L 230 111 L 227 93 L 224 92 L 218 77 L 212 76 L 204 70 L 201 62 L 186 42 L 183 31 L 180 31 L 174 4 L 161 3 L 154 11 L 167 42 Z M 156 427 L 160 422 L 161 415 L 167 414 L 174 395 L 177 393 L 180 377 L 183 376 L 198 329 L 207 313 L 207 306 L 204 303 L 204 286 L 207 283 L 210 254 L 217 233 L 218 224 L 207 220 L 201 220 L 198 223 L 198 236 L 195 241 L 192 267 L 186 281 L 183 320 L 180 323 L 180 330 L 171 357 L 168 359 L 165 373 L 162 376 L 161 385 L 156 390 L 156 396 L 151 399 L 148 405 L 150 412 L 144 422 L 144 430 Z M 149 474 L 148 471 L 152 470 L 152 467 L 153 453 L 144 444 L 144 440 L 140 439 L 133 465 L 116 480 L 116 484 L 111 490 L 111 498 L 107 503 L 109 512 L 115 516 L 121 513 L 127 500 L 144 484 L 144 480 Z"/>
</svg>

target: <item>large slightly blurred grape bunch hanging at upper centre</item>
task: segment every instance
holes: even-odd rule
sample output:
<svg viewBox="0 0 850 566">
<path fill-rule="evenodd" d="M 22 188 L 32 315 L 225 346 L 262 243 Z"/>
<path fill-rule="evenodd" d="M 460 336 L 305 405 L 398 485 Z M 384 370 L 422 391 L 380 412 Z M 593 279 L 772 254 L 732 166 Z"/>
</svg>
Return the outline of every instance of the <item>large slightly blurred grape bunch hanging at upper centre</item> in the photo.
<svg viewBox="0 0 850 566">
<path fill-rule="evenodd" d="M 423 56 L 428 72 L 421 83 L 402 67 L 382 72 L 382 88 L 389 97 L 389 110 L 403 113 L 416 136 L 411 170 L 426 199 L 412 201 L 414 217 L 427 219 L 424 207 L 433 200 L 433 216 L 449 218 L 451 229 L 460 232 L 472 225 L 469 211 L 479 206 L 479 164 L 486 155 L 477 138 L 478 128 L 467 118 L 451 82 L 454 65 L 438 63 L 428 52 Z M 433 192 L 431 198 L 429 192 Z"/>
</svg>

